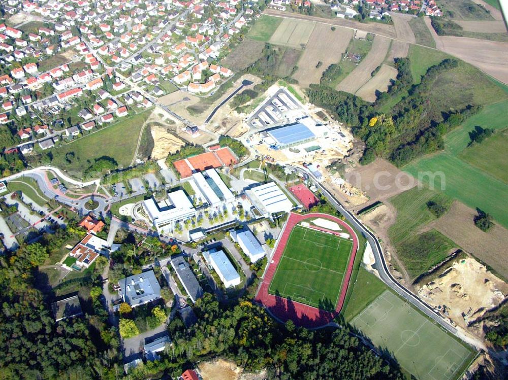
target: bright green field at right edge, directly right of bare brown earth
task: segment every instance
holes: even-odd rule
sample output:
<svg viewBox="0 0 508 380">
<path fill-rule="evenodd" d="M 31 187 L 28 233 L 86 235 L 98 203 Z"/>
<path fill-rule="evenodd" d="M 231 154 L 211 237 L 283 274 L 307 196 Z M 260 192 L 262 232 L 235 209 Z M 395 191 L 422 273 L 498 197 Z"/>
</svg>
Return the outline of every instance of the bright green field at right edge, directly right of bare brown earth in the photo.
<svg viewBox="0 0 508 380">
<path fill-rule="evenodd" d="M 435 186 L 450 197 L 469 207 L 491 214 L 499 224 L 508 228 L 508 185 L 486 172 L 469 165 L 449 152 L 423 157 L 404 166 L 413 176 L 419 172 L 442 172 L 446 183 L 436 178 Z"/>
</svg>

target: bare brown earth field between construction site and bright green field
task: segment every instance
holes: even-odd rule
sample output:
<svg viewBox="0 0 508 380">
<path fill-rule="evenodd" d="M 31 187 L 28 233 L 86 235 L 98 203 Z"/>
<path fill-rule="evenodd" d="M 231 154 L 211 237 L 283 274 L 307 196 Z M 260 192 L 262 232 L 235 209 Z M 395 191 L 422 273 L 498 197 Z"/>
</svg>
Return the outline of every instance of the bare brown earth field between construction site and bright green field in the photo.
<svg viewBox="0 0 508 380">
<path fill-rule="evenodd" d="M 391 198 L 417 184 L 410 175 L 383 159 L 347 172 L 345 178 L 365 191 L 371 201 Z"/>
</svg>

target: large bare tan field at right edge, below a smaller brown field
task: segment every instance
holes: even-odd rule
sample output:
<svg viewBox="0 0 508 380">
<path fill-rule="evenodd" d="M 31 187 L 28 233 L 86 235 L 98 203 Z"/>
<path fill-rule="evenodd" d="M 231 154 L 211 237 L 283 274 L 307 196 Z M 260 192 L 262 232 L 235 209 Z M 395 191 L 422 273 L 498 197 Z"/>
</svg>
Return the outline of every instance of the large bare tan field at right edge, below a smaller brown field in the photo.
<svg viewBox="0 0 508 380">
<path fill-rule="evenodd" d="M 439 37 L 442 51 L 454 55 L 508 84 L 508 43 L 464 37 Z M 437 43 L 436 43 L 436 46 Z"/>
</svg>

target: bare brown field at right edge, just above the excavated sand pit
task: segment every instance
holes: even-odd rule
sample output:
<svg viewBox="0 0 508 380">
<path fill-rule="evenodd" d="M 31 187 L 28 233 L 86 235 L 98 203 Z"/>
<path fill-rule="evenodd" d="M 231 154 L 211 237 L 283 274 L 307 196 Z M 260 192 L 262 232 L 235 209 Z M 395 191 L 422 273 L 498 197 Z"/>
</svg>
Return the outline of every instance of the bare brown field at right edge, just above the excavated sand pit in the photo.
<svg viewBox="0 0 508 380">
<path fill-rule="evenodd" d="M 455 241 L 460 247 L 490 265 L 502 277 L 508 279 L 508 261 L 501 252 L 508 247 L 508 230 L 498 223 L 488 232 L 474 225 L 477 212 L 465 204 L 455 201 L 450 211 L 432 222 L 429 228 L 435 228 L 443 235 Z"/>
</svg>

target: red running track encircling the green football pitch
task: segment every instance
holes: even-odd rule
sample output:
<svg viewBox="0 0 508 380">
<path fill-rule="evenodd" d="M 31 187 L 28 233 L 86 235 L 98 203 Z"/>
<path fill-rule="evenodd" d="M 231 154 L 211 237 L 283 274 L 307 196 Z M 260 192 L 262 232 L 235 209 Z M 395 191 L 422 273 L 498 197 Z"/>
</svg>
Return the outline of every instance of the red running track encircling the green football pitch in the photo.
<svg viewBox="0 0 508 380">
<path fill-rule="evenodd" d="M 329 219 L 340 226 L 344 227 L 353 238 L 353 250 L 351 253 L 350 261 L 347 265 L 346 272 L 344 273 L 344 281 L 343 286 L 340 292 L 339 302 L 335 308 L 334 312 L 327 312 L 325 310 L 321 310 L 317 307 L 305 305 L 300 302 L 296 302 L 294 300 L 288 300 L 287 298 L 282 298 L 280 296 L 274 296 L 268 293 L 268 288 L 270 287 L 270 283 L 272 282 L 273 276 L 275 275 L 275 271 L 279 264 L 280 259 L 282 258 L 282 253 L 284 252 L 284 248 L 288 243 L 289 236 L 291 231 L 302 220 L 309 218 L 323 218 Z M 332 232 L 327 230 L 327 232 Z M 351 279 L 351 273 L 353 271 L 353 266 L 355 263 L 355 257 L 358 251 L 358 237 L 351 228 L 350 225 L 340 220 L 339 218 L 333 217 L 327 214 L 294 214 L 291 213 L 288 219 L 288 223 L 286 224 L 284 230 L 282 231 L 279 242 L 277 244 L 277 248 L 272 257 L 271 262 L 269 263 L 268 269 L 266 271 L 265 277 L 263 279 L 263 283 L 256 295 L 255 301 L 265 306 L 270 314 L 272 314 L 275 318 L 280 320 L 281 322 L 286 322 L 288 320 L 292 320 L 295 325 L 306 327 L 306 328 L 317 328 L 322 327 L 333 321 L 335 317 L 337 317 L 344 305 L 344 300 L 347 293 L 347 288 L 349 286 L 349 281 Z"/>
</svg>

